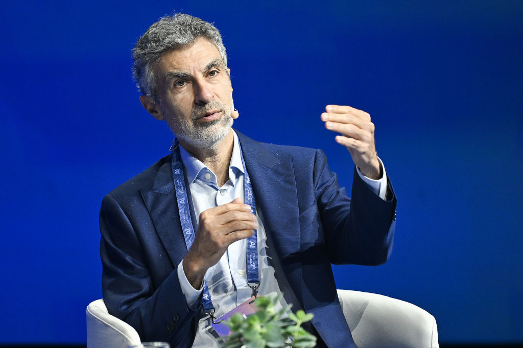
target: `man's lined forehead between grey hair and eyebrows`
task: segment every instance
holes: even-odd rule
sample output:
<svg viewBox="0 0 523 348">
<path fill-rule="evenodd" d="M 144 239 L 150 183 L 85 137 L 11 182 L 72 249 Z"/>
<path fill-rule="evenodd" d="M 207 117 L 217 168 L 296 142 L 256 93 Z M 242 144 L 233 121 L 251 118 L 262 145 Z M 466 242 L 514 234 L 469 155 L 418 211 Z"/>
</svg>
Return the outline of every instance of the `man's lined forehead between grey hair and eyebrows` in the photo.
<svg viewBox="0 0 523 348">
<path fill-rule="evenodd" d="M 198 38 L 187 47 L 162 55 L 156 63 L 156 71 L 160 76 L 173 71 L 194 73 L 217 58 L 222 61 L 216 46 L 205 38 Z"/>
</svg>

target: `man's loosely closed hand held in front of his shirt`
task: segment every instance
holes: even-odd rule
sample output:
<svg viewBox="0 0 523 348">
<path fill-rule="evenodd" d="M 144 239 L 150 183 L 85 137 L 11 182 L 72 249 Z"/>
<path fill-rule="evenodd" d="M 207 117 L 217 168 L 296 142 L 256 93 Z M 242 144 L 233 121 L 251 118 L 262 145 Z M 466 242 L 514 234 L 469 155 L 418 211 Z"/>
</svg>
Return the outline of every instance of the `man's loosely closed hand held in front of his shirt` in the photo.
<svg viewBox="0 0 523 348">
<path fill-rule="evenodd" d="M 235 241 L 253 236 L 257 228 L 256 215 L 240 198 L 203 211 L 195 241 L 183 263 L 192 287 L 199 289 L 205 273 L 220 261 L 225 250 Z"/>
</svg>

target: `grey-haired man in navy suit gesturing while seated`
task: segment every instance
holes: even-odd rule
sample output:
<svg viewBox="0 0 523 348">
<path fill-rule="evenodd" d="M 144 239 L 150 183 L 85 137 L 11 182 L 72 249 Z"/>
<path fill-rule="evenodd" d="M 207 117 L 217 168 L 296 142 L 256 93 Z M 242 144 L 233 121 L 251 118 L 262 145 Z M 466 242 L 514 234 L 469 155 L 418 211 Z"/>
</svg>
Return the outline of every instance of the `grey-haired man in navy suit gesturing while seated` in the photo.
<svg viewBox="0 0 523 348">
<path fill-rule="evenodd" d="M 102 203 L 109 312 L 143 341 L 219 346 L 213 318 L 256 292 L 283 293 L 282 306 L 314 314 L 306 329 L 317 346 L 355 346 L 331 263 L 384 263 L 395 225 L 369 115 L 335 105 L 321 114 L 356 164 L 351 201 L 320 150 L 232 130 L 230 69 L 211 24 L 164 17 L 138 40 L 133 59 L 143 107 L 176 141 L 172 155 Z"/>
</svg>

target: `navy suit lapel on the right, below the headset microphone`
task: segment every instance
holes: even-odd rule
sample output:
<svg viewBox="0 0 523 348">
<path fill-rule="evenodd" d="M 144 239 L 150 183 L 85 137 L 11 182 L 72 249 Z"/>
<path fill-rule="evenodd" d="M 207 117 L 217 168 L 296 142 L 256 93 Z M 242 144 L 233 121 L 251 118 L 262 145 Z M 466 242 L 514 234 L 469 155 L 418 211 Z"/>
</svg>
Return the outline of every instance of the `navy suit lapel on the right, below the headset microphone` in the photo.
<svg viewBox="0 0 523 348">
<path fill-rule="evenodd" d="M 275 246 L 283 272 L 301 301 L 300 222 L 292 160 L 280 159 L 262 144 L 236 133 L 267 238 Z"/>
</svg>

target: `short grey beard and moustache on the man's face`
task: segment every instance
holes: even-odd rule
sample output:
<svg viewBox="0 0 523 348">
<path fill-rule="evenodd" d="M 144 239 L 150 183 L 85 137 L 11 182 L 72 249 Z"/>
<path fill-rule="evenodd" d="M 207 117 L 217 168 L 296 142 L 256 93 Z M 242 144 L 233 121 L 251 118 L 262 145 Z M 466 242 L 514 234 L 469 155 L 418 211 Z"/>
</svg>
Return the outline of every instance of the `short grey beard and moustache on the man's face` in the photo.
<svg viewBox="0 0 523 348">
<path fill-rule="evenodd" d="M 222 113 L 219 119 L 210 122 L 196 122 L 201 114 L 214 109 Z M 166 122 L 178 141 L 181 140 L 196 148 L 212 149 L 229 133 L 234 121 L 231 118 L 233 109 L 232 98 L 230 106 L 225 106 L 219 101 L 211 101 L 205 106 L 192 109 L 190 120 L 180 119 L 166 113 Z"/>
</svg>

